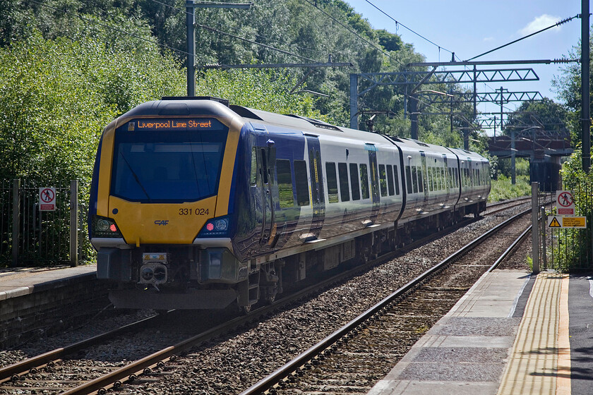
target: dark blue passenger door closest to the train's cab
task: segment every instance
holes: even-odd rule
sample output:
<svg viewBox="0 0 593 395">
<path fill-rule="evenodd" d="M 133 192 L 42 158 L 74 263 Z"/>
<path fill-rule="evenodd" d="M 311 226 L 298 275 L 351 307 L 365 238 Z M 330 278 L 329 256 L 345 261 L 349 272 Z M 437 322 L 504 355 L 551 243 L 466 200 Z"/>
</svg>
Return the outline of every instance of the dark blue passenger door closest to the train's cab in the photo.
<svg viewBox="0 0 593 395">
<path fill-rule="evenodd" d="M 311 231 L 318 237 L 325 220 L 325 195 L 323 193 L 323 166 L 321 163 L 321 147 L 316 135 L 305 135 L 307 150 L 309 150 L 309 173 L 311 176 Z"/>
</svg>

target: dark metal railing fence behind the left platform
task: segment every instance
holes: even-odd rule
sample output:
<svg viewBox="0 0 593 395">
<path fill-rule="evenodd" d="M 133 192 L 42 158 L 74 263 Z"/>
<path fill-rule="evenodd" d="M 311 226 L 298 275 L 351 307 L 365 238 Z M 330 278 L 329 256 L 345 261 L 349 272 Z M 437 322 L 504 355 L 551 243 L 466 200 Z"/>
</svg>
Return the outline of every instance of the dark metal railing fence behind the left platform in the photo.
<svg viewBox="0 0 593 395">
<path fill-rule="evenodd" d="M 2 181 L 0 189 L 0 267 L 52 266 L 90 259 L 86 207 L 78 204 L 78 181 L 58 184 L 55 209 L 40 209 L 38 183 Z"/>
</svg>

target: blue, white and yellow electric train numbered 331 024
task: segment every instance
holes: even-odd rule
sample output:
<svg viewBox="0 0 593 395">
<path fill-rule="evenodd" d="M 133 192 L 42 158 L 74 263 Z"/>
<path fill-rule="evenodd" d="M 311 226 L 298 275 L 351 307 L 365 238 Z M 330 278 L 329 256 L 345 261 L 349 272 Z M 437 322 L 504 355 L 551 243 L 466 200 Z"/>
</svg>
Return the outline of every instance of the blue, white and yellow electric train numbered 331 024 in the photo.
<svg viewBox="0 0 593 395">
<path fill-rule="evenodd" d="M 163 98 L 105 128 L 89 233 L 116 308 L 248 310 L 479 216 L 489 191 L 489 162 L 475 152 Z"/>
</svg>

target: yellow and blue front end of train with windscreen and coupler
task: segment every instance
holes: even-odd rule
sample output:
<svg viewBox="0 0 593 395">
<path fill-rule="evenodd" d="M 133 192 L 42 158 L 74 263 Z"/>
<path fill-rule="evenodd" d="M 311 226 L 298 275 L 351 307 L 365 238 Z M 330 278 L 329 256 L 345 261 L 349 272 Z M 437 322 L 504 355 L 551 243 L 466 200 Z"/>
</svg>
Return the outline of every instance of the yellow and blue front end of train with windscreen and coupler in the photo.
<svg viewBox="0 0 593 395">
<path fill-rule="evenodd" d="M 247 277 L 229 201 L 241 132 L 217 102 L 157 101 L 107 126 L 93 174 L 90 241 L 116 308 L 224 308 Z"/>
</svg>

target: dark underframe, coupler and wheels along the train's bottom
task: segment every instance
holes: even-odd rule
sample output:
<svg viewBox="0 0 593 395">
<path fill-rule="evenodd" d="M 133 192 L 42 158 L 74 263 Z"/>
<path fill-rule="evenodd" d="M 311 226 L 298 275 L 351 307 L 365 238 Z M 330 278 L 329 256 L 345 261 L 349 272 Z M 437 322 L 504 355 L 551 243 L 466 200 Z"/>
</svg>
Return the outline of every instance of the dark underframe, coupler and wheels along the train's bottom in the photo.
<svg viewBox="0 0 593 395">
<path fill-rule="evenodd" d="M 145 245 L 102 248 L 97 277 L 114 281 L 109 298 L 116 308 L 221 309 L 236 303 L 250 310 L 340 265 L 357 265 L 414 240 L 442 231 L 468 214 L 479 217 L 486 202 L 443 211 L 268 262 L 238 262 L 226 248 Z"/>
</svg>

